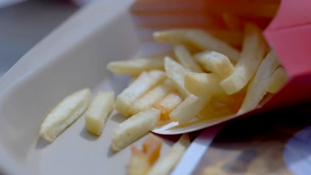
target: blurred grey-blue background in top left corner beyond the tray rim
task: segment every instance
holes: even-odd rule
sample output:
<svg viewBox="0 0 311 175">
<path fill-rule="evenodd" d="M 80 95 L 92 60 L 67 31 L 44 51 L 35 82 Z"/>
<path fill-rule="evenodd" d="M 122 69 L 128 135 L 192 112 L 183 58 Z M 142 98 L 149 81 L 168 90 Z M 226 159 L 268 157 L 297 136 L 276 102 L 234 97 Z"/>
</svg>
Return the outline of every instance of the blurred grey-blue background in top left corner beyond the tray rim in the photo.
<svg viewBox="0 0 311 175">
<path fill-rule="evenodd" d="M 0 0 L 0 78 L 86 0 Z"/>
</svg>

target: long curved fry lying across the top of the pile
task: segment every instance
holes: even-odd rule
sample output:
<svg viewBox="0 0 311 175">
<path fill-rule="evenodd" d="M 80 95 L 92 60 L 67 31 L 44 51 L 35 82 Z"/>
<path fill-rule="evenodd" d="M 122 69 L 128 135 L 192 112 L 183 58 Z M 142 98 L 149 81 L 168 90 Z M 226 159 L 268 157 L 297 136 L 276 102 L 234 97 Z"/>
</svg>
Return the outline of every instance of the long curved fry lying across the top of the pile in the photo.
<svg viewBox="0 0 311 175">
<path fill-rule="evenodd" d="M 187 43 L 197 46 L 202 50 L 215 50 L 227 55 L 232 62 L 236 62 L 240 57 L 240 52 L 226 42 L 221 41 L 196 29 L 172 29 L 163 32 L 154 32 L 154 39 L 172 44 Z"/>
</svg>

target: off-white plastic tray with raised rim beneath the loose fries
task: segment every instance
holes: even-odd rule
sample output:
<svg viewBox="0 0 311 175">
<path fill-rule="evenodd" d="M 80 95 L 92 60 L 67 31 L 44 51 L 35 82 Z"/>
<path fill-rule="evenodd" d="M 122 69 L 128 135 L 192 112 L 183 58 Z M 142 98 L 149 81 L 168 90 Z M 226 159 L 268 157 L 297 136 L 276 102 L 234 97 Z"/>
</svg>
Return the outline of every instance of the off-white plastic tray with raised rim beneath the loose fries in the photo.
<svg viewBox="0 0 311 175">
<path fill-rule="evenodd" d="M 84 116 L 53 143 L 38 139 L 41 122 L 65 96 L 91 88 L 119 94 L 128 79 L 106 70 L 112 60 L 141 52 L 127 7 L 131 1 L 98 1 L 66 20 L 0 80 L 0 169 L 10 174 L 125 174 L 129 147 L 113 154 L 113 113 L 97 138 Z M 135 145 L 141 145 L 141 138 Z M 164 140 L 162 154 L 172 141 Z"/>
</svg>

